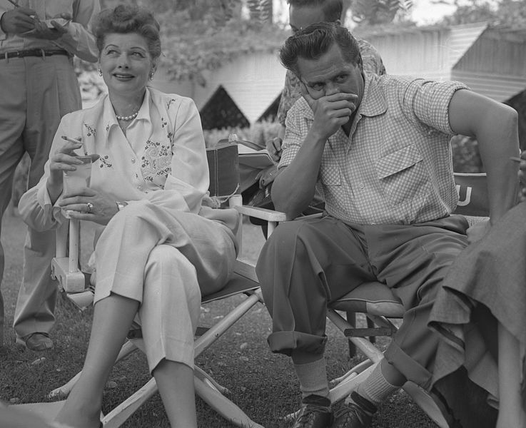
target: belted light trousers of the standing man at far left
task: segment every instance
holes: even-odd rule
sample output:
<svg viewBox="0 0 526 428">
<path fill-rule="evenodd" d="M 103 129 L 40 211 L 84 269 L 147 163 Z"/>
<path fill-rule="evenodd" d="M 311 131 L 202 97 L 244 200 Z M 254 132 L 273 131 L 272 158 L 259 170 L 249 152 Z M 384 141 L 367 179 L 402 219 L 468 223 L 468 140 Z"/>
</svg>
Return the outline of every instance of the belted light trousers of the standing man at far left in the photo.
<svg viewBox="0 0 526 428">
<path fill-rule="evenodd" d="M 81 108 L 81 96 L 69 56 L 0 58 L 0 215 L 4 215 L 14 171 L 25 152 L 31 158 L 28 186 L 44 173 L 56 128 L 64 114 Z M 47 332 L 54 325 L 56 282 L 50 277 L 55 253 L 54 230 L 28 228 L 24 245 L 24 277 L 14 315 L 16 335 Z M 0 248 L 0 277 L 4 251 Z M 0 330 L 4 303 L 0 296 Z"/>
</svg>

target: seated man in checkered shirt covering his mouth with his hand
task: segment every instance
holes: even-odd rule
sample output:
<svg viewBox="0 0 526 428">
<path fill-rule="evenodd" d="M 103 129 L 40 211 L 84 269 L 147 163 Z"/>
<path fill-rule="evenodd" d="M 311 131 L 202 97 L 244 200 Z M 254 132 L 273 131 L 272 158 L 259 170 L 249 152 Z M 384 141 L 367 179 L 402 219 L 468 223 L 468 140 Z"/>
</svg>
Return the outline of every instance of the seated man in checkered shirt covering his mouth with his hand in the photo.
<svg viewBox="0 0 526 428">
<path fill-rule="evenodd" d="M 517 113 L 460 82 L 363 72 L 338 24 L 308 26 L 280 52 L 303 98 L 286 119 L 275 207 L 292 220 L 315 187 L 322 218 L 282 223 L 256 272 L 273 317 L 270 350 L 290 355 L 302 408 L 294 427 L 369 427 L 407 380 L 430 389 L 438 337 L 428 314 L 448 267 L 467 245 L 449 145 L 475 136 L 487 171 L 491 221 L 515 201 Z M 293 183 L 293 185 L 290 185 Z M 333 414 L 323 352 L 326 306 L 363 282 L 393 289 L 406 308 L 385 359 Z"/>
</svg>

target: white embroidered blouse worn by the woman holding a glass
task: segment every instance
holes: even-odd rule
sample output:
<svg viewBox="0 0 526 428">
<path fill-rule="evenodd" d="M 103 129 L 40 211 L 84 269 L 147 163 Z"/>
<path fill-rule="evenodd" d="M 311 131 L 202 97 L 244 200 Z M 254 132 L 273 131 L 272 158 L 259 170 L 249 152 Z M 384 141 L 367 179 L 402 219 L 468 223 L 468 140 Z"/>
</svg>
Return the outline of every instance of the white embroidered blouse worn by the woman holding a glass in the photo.
<svg viewBox="0 0 526 428">
<path fill-rule="evenodd" d="M 211 206 L 208 164 L 201 119 L 191 98 L 147 88 L 125 136 L 106 95 L 95 106 L 62 118 L 50 157 L 65 143 L 61 136 L 82 138 L 88 153 L 101 156 L 91 167 L 91 188 L 115 200 L 147 199 L 168 209 L 221 220 L 236 229 L 235 211 L 203 207 Z M 19 203 L 22 217 L 36 230 L 54 228 L 64 220 L 61 209 L 51 205 L 48 177 L 49 161 L 40 182 Z"/>
</svg>

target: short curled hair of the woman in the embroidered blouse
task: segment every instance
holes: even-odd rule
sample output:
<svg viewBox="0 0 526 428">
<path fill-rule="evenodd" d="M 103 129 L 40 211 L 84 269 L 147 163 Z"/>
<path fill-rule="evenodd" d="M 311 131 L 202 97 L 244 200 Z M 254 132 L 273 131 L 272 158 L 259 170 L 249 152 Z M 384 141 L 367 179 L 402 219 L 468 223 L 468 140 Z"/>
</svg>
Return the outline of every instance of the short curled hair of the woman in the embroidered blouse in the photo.
<svg viewBox="0 0 526 428">
<path fill-rule="evenodd" d="M 153 60 L 161 56 L 160 29 L 161 26 L 148 9 L 128 4 L 119 4 L 115 9 L 101 11 L 93 24 L 99 52 L 102 51 L 106 35 L 136 33 L 148 42 L 148 51 Z"/>
</svg>

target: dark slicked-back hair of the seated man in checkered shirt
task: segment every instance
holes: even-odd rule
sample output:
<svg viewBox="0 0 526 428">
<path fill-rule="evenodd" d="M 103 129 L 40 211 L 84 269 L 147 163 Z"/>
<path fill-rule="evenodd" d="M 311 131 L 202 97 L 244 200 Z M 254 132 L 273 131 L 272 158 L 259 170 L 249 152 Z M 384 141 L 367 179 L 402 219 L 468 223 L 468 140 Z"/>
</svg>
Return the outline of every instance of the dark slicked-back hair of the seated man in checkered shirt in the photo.
<svg viewBox="0 0 526 428">
<path fill-rule="evenodd" d="M 350 31 L 333 22 L 320 22 L 290 36 L 280 50 L 280 61 L 285 68 L 300 76 L 298 58 L 318 59 L 336 44 L 345 61 L 363 71 L 362 56 L 358 42 Z"/>
</svg>

